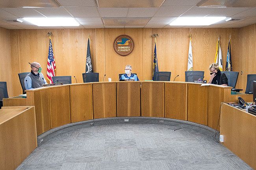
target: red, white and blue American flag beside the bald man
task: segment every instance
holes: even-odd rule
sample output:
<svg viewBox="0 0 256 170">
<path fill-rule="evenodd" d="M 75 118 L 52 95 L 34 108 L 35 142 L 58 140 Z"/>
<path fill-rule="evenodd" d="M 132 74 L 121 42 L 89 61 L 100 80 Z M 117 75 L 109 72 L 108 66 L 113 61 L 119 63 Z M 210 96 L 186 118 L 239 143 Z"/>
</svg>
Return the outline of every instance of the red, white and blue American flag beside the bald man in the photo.
<svg viewBox="0 0 256 170">
<path fill-rule="evenodd" d="M 56 69 L 56 64 L 54 60 L 54 55 L 52 51 L 52 39 L 49 39 L 49 53 L 48 53 L 48 61 L 47 61 L 47 79 L 50 81 L 50 84 L 54 83 L 52 82 L 52 77 L 55 76 L 54 70 Z"/>
</svg>

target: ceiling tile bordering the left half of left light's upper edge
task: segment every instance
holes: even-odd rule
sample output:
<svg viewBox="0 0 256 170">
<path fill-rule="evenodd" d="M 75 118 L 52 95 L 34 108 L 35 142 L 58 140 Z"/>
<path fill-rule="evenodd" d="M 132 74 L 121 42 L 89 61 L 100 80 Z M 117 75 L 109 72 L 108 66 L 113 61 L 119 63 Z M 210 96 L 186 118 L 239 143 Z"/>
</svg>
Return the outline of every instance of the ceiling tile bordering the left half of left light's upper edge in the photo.
<svg viewBox="0 0 256 170">
<path fill-rule="evenodd" d="M 35 11 L 32 8 L 2 8 L 5 11 L 16 15 L 20 18 L 24 18 L 24 17 L 44 17 L 43 15 L 41 15 L 39 12 Z M 14 18 L 14 17 L 13 17 Z"/>
</svg>

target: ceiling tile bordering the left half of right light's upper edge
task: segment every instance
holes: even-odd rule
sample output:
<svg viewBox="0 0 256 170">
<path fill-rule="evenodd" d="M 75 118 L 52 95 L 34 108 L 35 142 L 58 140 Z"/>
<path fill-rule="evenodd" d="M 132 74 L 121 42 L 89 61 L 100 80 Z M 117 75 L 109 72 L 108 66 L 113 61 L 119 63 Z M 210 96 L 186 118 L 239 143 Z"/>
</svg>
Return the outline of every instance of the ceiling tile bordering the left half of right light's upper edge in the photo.
<svg viewBox="0 0 256 170">
<path fill-rule="evenodd" d="M 217 8 L 195 6 L 189 9 L 186 13 L 182 14 L 182 16 L 206 16 L 215 12 L 216 9 Z"/>
</svg>

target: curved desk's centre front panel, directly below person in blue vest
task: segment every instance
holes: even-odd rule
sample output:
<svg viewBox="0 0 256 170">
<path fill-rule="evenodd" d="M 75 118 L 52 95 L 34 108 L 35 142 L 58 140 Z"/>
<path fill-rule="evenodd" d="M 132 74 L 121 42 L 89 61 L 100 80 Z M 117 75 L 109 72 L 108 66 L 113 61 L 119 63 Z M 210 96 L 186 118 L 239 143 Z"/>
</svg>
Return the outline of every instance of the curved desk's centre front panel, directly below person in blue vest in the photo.
<svg viewBox="0 0 256 170">
<path fill-rule="evenodd" d="M 117 82 L 117 117 L 141 116 L 141 83 Z"/>
</svg>

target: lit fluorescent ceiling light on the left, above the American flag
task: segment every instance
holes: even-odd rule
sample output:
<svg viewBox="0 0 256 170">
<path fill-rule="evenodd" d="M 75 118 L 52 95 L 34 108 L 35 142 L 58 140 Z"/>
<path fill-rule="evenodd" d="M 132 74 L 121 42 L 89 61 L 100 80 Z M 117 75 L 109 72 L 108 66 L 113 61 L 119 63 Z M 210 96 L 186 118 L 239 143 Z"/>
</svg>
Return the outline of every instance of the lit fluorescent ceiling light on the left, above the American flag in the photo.
<svg viewBox="0 0 256 170">
<path fill-rule="evenodd" d="M 79 26 L 80 25 L 74 18 L 23 18 L 23 19 L 39 27 Z"/>
</svg>

